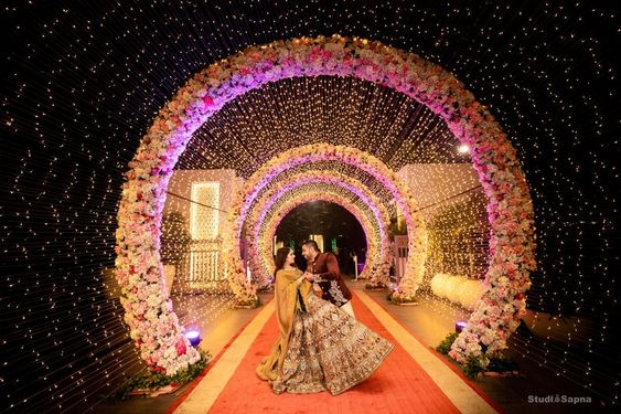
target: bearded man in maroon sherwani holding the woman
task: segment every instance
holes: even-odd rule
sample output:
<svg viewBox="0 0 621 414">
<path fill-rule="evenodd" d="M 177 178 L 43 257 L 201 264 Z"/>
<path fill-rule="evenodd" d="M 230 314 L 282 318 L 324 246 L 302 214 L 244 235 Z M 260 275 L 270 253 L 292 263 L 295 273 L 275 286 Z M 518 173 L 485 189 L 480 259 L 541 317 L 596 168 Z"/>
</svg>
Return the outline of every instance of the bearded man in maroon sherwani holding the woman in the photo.
<svg viewBox="0 0 621 414">
<path fill-rule="evenodd" d="M 325 299 L 341 308 L 341 310 L 354 316 L 352 308 L 352 293 L 341 277 L 339 261 L 334 253 L 321 253 L 314 240 L 309 240 L 302 244 L 302 256 L 308 262 L 304 277 L 319 286 L 322 291 L 322 299 Z"/>
</svg>

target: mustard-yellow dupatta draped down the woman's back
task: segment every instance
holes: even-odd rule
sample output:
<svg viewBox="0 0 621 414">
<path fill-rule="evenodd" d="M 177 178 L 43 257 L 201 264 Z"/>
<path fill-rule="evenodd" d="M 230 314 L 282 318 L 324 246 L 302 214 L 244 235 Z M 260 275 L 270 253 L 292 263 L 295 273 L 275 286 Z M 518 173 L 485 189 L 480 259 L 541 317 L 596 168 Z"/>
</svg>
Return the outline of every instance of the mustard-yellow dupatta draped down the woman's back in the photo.
<svg viewBox="0 0 621 414">
<path fill-rule="evenodd" d="M 276 318 L 280 328 L 280 337 L 271 348 L 271 352 L 257 367 L 257 375 L 261 380 L 275 381 L 282 369 L 285 355 L 289 349 L 289 338 L 297 311 L 308 308 L 307 297 L 311 290 L 310 282 L 298 282 L 302 272 L 298 269 L 278 270 L 276 273 L 275 300 Z"/>
</svg>

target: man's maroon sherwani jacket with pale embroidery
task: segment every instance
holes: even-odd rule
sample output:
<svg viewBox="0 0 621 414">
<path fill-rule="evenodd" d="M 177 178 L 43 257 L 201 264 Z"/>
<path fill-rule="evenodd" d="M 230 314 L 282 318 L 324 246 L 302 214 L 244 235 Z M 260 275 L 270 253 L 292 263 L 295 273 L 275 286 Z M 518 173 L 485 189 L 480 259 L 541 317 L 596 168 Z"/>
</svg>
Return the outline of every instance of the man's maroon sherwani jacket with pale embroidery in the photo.
<svg viewBox="0 0 621 414">
<path fill-rule="evenodd" d="M 339 261 L 334 253 L 320 253 L 314 261 L 308 263 L 310 273 L 317 275 L 317 284 L 321 288 L 322 299 L 341 307 L 352 299 L 352 293 L 341 277 Z"/>
</svg>

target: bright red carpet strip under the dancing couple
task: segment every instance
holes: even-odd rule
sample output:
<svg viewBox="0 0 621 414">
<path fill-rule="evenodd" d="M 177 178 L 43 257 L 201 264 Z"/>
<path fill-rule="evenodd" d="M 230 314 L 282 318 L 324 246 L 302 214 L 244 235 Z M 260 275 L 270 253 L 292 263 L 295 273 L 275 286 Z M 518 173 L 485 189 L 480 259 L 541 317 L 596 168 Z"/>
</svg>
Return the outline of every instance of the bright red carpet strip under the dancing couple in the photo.
<svg viewBox="0 0 621 414">
<path fill-rule="evenodd" d="M 361 300 L 361 296 L 366 298 L 364 302 Z M 211 408 L 207 405 L 203 406 L 201 411 L 203 413 L 322 414 L 459 412 L 421 365 L 404 349 L 400 344 L 404 342 L 403 339 L 396 340 L 385 325 L 372 315 L 365 305 L 365 302 L 368 304 L 370 298 L 365 294 L 361 294 L 361 296 L 356 296 L 353 301 L 358 320 L 395 343 L 395 350 L 366 382 L 338 396 L 331 396 L 326 392 L 308 395 L 275 395 L 269 385 L 255 374 L 255 367 L 269 352 L 278 335 L 276 319 L 271 314 Z M 373 307 L 373 305 L 370 306 Z M 379 314 L 379 310 L 374 309 L 374 312 Z M 436 357 L 432 355 L 432 358 Z M 190 399 L 192 399 L 192 394 Z M 176 412 L 196 412 L 196 404 L 191 408 L 191 404 L 184 403 L 179 406 Z M 485 408 L 489 412 L 491 407 Z"/>
</svg>

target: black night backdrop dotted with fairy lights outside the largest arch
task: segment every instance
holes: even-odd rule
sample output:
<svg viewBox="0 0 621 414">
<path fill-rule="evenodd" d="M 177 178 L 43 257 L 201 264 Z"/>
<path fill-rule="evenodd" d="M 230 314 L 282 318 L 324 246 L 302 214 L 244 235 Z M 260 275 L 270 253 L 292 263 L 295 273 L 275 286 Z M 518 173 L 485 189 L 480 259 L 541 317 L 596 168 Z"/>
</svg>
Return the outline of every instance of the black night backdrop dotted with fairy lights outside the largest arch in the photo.
<svg viewBox="0 0 621 414">
<path fill-rule="evenodd" d="M 415 52 L 489 106 L 518 151 L 536 211 L 539 268 L 528 307 L 599 327 L 565 344 L 560 364 L 546 364 L 545 343 L 533 358 L 618 403 L 615 9 L 586 1 L 3 2 L 0 408 L 85 411 L 138 363 L 100 275 L 114 265 L 122 173 L 157 110 L 216 60 L 332 33 Z"/>
</svg>

